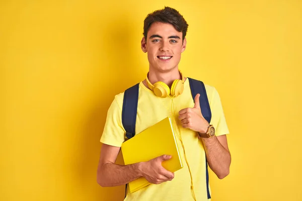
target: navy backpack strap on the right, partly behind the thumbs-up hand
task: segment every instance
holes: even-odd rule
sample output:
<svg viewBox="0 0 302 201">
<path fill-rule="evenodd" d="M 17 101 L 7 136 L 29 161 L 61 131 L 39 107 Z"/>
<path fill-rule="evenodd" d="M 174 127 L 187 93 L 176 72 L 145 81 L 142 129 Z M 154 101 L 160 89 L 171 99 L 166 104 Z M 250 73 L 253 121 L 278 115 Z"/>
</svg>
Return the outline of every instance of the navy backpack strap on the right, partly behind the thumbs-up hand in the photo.
<svg viewBox="0 0 302 201">
<path fill-rule="evenodd" d="M 204 119 L 208 123 L 210 123 L 211 118 L 212 118 L 212 114 L 211 114 L 209 101 L 208 101 L 208 98 L 207 98 L 207 95 L 206 95 L 205 86 L 204 86 L 202 81 L 192 79 L 192 78 L 189 78 L 189 77 L 188 77 L 188 79 L 189 79 L 189 83 L 190 83 L 190 88 L 191 88 L 191 93 L 192 93 L 193 100 L 195 101 L 195 96 L 196 96 L 197 93 L 199 93 L 200 94 L 199 104 L 200 104 L 200 109 L 201 109 L 202 116 L 204 117 Z M 205 157 L 205 177 L 206 177 L 207 198 L 210 199 L 211 195 L 210 195 L 210 191 L 209 191 L 209 172 L 208 172 L 208 165 L 207 165 L 206 157 Z"/>
</svg>

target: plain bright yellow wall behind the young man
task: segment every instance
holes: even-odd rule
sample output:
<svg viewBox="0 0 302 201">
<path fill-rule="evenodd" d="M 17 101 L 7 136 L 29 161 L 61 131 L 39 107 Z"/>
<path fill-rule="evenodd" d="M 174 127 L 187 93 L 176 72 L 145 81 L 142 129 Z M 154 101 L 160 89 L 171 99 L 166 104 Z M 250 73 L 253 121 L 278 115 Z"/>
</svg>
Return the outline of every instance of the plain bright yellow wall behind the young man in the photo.
<svg viewBox="0 0 302 201">
<path fill-rule="evenodd" d="M 114 95 L 144 79 L 143 20 L 165 5 L 189 24 L 180 68 L 216 87 L 231 132 L 212 200 L 302 200 L 298 0 L 1 1 L 0 200 L 122 200 L 96 182 L 99 140 Z"/>
</svg>

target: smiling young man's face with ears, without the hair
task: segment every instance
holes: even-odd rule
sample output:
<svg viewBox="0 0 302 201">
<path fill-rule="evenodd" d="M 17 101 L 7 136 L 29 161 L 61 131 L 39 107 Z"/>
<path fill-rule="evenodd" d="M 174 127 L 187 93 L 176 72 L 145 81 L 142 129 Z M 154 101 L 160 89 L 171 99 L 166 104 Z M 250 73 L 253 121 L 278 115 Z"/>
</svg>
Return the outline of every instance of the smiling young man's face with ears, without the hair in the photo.
<svg viewBox="0 0 302 201">
<path fill-rule="evenodd" d="M 147 38 L 141 40 L 141 49 L 147 52 L 150 68 L 167 72 L 178 68 L 181 53 L 186 49 L 186 39 L 182 32 L 176 31 L 171 24 L 153 23 Z"/>
</svg>

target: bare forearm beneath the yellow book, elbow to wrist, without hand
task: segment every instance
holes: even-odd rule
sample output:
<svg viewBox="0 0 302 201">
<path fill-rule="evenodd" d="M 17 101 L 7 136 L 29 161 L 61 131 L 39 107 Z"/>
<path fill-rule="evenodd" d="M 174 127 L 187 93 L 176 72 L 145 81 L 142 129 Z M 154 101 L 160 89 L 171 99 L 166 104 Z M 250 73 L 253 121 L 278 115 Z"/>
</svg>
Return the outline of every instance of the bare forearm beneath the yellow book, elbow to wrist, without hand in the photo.
<svg viewBox="0 0 302 201">
<path fill-rule="evenodd" d="M 141 176 L 140 163 L 117 165 L 109 162 L 98 169 L 97 180 L 101 186 L 108 187 L 124 185 Z"/>
</svg>

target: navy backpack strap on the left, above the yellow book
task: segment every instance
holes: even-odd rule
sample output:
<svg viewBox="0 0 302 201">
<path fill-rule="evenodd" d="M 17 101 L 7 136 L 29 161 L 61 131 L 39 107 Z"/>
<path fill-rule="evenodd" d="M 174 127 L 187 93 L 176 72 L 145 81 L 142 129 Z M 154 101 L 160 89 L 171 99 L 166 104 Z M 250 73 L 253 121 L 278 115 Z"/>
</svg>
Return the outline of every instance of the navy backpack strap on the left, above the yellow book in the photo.
<svg viewBox="0 0 302 201">
<path fill-rule="evenodd" d="M 128 139 L 135 135 L 135 123 L 138 102 L 138 83 L 124 92 L 123 109 L 122 109 L 122 124 L 126 131 Z"/>
</svg>

